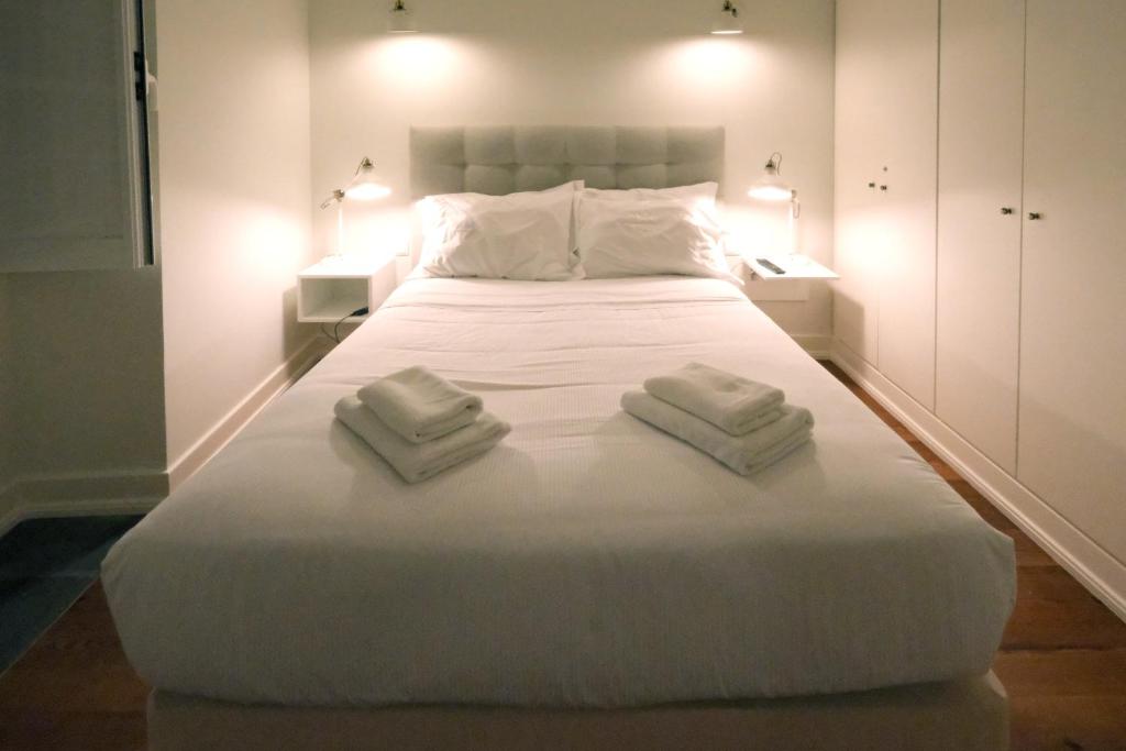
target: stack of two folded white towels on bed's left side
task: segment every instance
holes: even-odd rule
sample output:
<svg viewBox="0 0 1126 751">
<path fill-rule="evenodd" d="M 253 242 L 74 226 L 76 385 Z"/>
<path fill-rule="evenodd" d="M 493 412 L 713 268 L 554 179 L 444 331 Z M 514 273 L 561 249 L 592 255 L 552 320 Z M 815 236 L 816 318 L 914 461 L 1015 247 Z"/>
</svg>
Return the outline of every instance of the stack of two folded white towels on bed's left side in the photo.
<svg viewBox="0 0 1126 751">
<path fill-rule="evenodd" d="M 480 396 L 421 366 L 345 396 L 336 413 L 412 483 L 484 454 L 512 429 L 482 411 Z"/>
</svg>

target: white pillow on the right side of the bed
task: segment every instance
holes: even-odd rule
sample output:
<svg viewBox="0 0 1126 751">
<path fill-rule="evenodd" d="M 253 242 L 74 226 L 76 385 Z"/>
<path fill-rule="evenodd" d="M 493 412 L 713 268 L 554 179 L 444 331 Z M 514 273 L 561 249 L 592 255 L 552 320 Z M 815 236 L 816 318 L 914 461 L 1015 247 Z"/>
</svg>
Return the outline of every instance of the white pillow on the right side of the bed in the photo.
<svg viewBox="0 0 1126 751">
<path fill-rule="evenodd" d="M 588 279 L 682 274 L 727 279 L 723 231 L 706 207 L 672 198 L 579 199 L 579 259 Z"/>
</svg>

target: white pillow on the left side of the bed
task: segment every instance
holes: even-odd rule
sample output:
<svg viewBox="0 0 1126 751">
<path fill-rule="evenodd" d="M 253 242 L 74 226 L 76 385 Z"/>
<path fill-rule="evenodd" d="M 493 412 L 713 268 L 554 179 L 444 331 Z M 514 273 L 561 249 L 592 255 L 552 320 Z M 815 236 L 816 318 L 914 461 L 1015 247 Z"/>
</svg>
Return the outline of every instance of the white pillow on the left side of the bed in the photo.
<svg viewBox="0 0 1126 751">
<path fill-rule="evenodd" d="M 420 268 L 430 276 L 572 278 L 572 212 L 582 181 L 539 191 L 463 193 L 419 202 Z"/>
</svg>

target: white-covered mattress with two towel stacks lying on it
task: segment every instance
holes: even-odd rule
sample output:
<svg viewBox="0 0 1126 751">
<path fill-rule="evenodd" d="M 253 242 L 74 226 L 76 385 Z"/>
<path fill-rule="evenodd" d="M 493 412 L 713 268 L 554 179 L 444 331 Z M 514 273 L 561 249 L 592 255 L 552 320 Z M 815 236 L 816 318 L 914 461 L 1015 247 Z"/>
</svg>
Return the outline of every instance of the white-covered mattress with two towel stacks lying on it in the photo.
<svg viewBox="0 0 1126 751">
<path fill-rule="evenodd" d="M 814 440 L 741 477 L 623 413 L 700 360 Z M 408 486 L 333 421 L 426 364 L 513 426 Z M 984 673 L 1011 540 L 733 286 L 408 281 L 126 535 L 125 651 L 180 694 L 291 705 L 624 706 Z"/>
</svg>

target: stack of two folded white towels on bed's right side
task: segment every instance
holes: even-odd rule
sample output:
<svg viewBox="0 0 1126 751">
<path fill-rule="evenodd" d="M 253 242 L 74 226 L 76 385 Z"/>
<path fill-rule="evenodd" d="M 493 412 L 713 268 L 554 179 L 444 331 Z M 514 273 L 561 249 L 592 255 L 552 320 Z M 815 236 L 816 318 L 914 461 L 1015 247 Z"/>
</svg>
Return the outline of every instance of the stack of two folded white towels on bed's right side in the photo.
<svg viewBox="0 0 1126 751">
<path fill-rule="evenodd" d="M 810 439 L 813 415 L 766 384 L 689 363 L 622 395 L 629 414 L 711 454 L 741 475 L 774 464 Z"/>
</svg>

